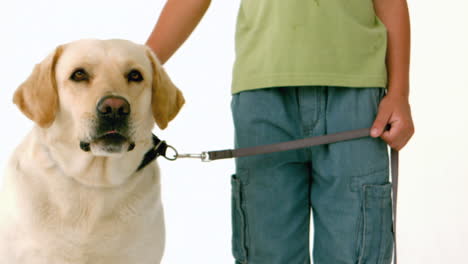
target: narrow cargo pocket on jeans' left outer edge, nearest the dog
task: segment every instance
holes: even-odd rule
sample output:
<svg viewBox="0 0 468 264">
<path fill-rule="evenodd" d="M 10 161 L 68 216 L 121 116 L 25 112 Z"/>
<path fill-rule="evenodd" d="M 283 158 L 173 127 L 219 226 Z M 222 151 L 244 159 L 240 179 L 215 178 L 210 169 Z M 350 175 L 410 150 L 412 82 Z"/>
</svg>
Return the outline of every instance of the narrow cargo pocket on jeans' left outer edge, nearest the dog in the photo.
<svg viewBox="0 0 468 264">
<path fill-rule="evenodd" d="M 234 174 L 231 177 L 232 254 L 236 263 L 247 263 L 247 225 L 243 208 L 242 183 Z"/>
</svg>

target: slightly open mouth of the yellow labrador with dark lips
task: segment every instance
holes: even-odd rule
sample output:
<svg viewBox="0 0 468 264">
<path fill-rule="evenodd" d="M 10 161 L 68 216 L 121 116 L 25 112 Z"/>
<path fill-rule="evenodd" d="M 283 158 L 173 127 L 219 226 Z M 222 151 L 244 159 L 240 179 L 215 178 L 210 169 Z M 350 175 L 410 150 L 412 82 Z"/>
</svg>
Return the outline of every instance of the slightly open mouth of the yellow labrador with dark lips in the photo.
<svg viewBox="0 0 468 264">
<path fill-rule="evenodd" d="M 110 130 L 93 137 L 89 142 L 81 141 L 80 148 L 85 152 L 91 151 L 96 156 L 120 156 L 132 151 L 135 143 L 117 130 Z"/>
</svg>

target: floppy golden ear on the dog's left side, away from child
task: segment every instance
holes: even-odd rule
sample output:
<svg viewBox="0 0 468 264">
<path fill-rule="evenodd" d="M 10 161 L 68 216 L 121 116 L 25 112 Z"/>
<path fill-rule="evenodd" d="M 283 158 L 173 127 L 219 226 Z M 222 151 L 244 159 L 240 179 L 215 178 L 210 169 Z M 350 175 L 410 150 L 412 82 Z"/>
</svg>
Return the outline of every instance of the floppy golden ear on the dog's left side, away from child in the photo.
<svg viewBox="0 0 468 264">
<path fill-rule="evenodd" d="M 59 46 L 41 63 L 36 64 L 31 75 L 13 96 L 13 102 L 21 112 L 41 127 L 49 127 L 57 113 L 59 102 L 55 64 L 61 52 L 62 47 Z"/>
</svg>

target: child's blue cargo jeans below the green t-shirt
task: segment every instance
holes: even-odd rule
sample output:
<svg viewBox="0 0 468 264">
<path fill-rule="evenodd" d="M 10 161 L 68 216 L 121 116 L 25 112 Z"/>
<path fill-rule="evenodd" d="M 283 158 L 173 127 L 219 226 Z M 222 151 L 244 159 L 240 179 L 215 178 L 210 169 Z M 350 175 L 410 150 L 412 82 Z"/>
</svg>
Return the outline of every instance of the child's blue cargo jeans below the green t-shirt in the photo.
<svg viewBox="0 0 468 264">
<path fill-rule="evenodd" d="M 280 87 L 233 95 L 235 145 L 256 146 L 370 127 L 383 88 Z M 387 144 L 361 138 L 236 159 L 232 246 L 237 264 L 389 264 Z"/>
</svg>

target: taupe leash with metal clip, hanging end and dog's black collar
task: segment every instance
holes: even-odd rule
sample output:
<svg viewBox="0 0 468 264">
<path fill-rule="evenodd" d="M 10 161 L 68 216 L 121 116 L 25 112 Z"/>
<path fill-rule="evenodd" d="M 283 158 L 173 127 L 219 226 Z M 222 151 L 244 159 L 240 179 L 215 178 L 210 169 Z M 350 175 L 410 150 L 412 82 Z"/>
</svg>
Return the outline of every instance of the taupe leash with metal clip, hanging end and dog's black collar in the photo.
<svg viewBox="0 0 468 264">
<path fill-rule="evenodd" d="M 390 130 L 390 124 L 385 127 L 385 130 Z M 159 156 L 174 161 L 179 158 L 195 158 L 201 161 L 208 162 L 220 159 L 238 158 L 245 156 L 253 156 L 259 154 L 266 154 L 272 152 L 281 152 L 293 149 L 300 149 L 305 147 L 318 146 L 323 144 L 330 144 L 339 141 L 346 141 L 352 139 L 358 139 L 370 136 L 370 128 L 362 128 L 356 130 L 349 130 L 345 132 L 339 132 L 334 134 L 328 134 L 323 136 L 308 137 L 304 139 L 286 141 L 275 144 L 261 145 L 255 147 L 238 148 L 238 149 L 225 149 L 215 151 L 204 151 L 199 154 L 179 154 L 177 150 L 168 145 L 165 141 L 160 140 L 153 134 L 153 147 L 146 152 L 143 161 L 138 166 L 137 171 L 144 168 L 146 165 L 157 159 Z M 167 149 L 171 149 L 174 152 L 172 157 L 168 157 L 166 152 Z M 398 198 L 398 151 L 391 149 L 390 153 L 390 168 L 392 174 L 392 211 L 393 211 L 393 241 L 394 251 L 393 259 L 394 264 L 397 264 L 397 241 L 396 241 L 396 224 L 397 224 L 397 198 Z"/>
</svg>

